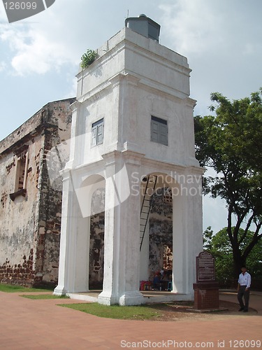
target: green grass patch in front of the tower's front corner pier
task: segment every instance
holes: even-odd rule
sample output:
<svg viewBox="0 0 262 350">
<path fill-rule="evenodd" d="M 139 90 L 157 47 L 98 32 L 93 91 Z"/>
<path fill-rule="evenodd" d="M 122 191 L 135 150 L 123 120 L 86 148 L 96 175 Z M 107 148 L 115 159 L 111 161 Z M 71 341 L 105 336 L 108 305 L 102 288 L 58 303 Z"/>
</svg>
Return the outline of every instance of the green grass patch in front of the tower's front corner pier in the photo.
<svg viewBox="0 0 262 350">
<path fill-rule="evenodd" d="M 161 310 L 157 310 L 157 305 L 144 306 L 119 306 L 119 305 L 102 305 L 96 302 L 81 304 L 60 304 L 61 307 L 69 307 L 78 311 L 86 312 L 99 317 L 117 318 L 128 320 L 146 320 L 161 316 Z"/>
</svg>

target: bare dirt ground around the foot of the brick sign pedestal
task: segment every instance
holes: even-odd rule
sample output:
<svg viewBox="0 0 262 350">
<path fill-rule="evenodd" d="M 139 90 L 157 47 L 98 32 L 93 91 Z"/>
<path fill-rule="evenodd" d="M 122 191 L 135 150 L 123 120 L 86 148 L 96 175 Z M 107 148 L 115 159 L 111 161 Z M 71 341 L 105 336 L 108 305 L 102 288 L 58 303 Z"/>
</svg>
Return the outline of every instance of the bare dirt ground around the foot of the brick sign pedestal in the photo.
<svg viewBox="0 0 262 350">
<path fill-rule="evenodd" d="M 210 319 L 221 319 L 228 316 L 251 316 L 257 311 L 250 309 L 247 313 L 239 312 L 239 305 L 233 302 L 220 301 L 219 311 L 199 312 L 194 311 L 193 305 L 188 302 L 170 302 L 156 305 L 156 309 L 161 311 L 161 316 L 156 316 L 152 321 L 208 321 Z"/>
</svg>

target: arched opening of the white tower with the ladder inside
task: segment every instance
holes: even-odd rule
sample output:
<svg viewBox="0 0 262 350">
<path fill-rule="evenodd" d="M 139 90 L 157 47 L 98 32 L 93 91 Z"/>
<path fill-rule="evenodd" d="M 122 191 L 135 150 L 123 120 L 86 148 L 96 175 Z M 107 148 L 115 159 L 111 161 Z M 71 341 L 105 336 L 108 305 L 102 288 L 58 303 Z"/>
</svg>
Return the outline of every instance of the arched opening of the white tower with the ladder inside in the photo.
<svg viewBox="0 0 262 350">
<path fill-rule="evenodd" d="M 161 290 L 173 280 L 174 193 L 179 193 L 177 183 L 167 174 L 149 174 L 141 181 L 140 280 L 153 282 L 159 275 Z"/>
</svg>

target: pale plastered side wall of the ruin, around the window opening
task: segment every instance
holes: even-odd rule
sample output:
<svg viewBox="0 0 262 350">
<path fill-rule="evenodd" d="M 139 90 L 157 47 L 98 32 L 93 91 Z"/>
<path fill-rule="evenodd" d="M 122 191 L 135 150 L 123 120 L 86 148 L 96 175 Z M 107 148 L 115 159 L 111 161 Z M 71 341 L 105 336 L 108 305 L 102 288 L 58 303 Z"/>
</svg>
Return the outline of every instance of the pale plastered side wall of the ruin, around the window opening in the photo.
<svg viewBox="0 0 262 350">
<path fill-rule="evenodd" d="M 17 131 L 19 132 L 19 130 Z M 15 153 L 28 146 L 27 192 L 11 200 L 15 191 Z M 35 239 L 38 231 L 38 180 L 41 135 L 17 143 L 0 157 L 0 281 L 30 285 L 34 279 Z"/>
</svg>

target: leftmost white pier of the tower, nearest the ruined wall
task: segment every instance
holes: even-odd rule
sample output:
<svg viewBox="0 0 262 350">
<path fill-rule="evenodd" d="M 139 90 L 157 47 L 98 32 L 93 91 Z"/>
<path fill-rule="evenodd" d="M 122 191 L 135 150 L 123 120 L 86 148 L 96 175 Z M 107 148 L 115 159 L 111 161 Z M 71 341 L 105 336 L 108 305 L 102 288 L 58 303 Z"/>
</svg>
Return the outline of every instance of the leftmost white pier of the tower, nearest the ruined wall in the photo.
<svg viewBox="0 0 262 350">
<path fill-rule="evenodd" d="M 82 217 L 71 172 L 64 173 L 59 279 L 54 295 L 89 290 L 90 218 Z"/>
</svg>

